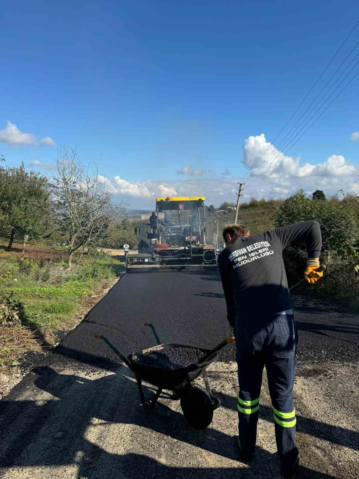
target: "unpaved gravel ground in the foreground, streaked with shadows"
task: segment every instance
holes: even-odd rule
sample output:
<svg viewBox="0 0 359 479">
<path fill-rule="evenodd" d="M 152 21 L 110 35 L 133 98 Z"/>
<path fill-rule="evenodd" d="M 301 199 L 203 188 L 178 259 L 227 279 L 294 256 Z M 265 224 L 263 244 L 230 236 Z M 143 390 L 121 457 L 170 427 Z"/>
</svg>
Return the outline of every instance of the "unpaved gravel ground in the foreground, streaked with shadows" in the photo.
<svg viewBox="0 0 359 479">
<path fill-rule="evenodd" d="M 317 376 L 316 366 L 299 371 L 296 381 L 298 478 L 359 477 L 358 369 L 330 367 L 331 399 L 323 388 L 328 378 Z M 281 477 L 265 377 L 257 457 L 250 465 L 239 460 L 233 438 L 235 363 L 209 368 L 213 392 L 222 406 L 205 431 L 187 425 L 177 401 L 160 399 L 152 413 L 144 412 L 135 378 L 124 366 L 113 372 L 92 368 L 58 374 L 37 368 L 34 373 L 34 383 L 16 401 L 5 404 L 12 410 L 12 427 L 1 441 L 0 457 L 7 466 L 1 469 L 3 478 Z M 351 403 L 343 401 L 343 390 L 354 391 Z M 151 393 L 147 389 L 146 394 Z M 0 419 L 5 426 L 7 419 L 4 415 Z"/>
</svg>

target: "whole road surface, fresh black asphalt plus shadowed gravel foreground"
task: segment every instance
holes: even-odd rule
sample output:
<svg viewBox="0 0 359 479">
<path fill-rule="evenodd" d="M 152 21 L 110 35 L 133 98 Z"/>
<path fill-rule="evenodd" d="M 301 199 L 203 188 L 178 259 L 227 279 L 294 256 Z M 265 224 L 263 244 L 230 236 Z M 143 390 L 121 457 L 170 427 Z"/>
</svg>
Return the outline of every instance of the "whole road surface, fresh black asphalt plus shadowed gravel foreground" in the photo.
<svg viewBox="0 0 359 479">
<path fill-rule="evenodd" d="M 358 318 L 303 296 L 296 307 L 297 477 L 359 478 Z M 256 459 L 248 465 L 237 454 L 233 346 L 209 367 L 222 406 L 205 431 L 188 426 L 179 402 L 165 397 L 152 413 L 143 411 L 133 374 L 93 333 L 128 354 L 155 343 L 146 320 L 156 323 L 163 342 L 213 346 L 226 329 L 218 275 L 126 274 L 55 351 L 28 356 L 35 367 L 0 402 L 0 476 L 281 477 L 265 377 Z"/>
</svg>

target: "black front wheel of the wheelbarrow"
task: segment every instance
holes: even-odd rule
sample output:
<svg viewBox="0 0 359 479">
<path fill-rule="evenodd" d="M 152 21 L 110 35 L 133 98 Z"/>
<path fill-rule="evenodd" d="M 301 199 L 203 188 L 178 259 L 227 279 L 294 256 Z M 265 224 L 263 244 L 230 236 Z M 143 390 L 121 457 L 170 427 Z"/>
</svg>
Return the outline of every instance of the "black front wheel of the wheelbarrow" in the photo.
<svg viewBox="0 0 359 479">
<path fill-rule="evenodd" d="M 207 391 L 198 386 L 182 390 L 180 404 L 190 426 L 205 429 L 213 419 L 213 404 Z"/>
</svg>

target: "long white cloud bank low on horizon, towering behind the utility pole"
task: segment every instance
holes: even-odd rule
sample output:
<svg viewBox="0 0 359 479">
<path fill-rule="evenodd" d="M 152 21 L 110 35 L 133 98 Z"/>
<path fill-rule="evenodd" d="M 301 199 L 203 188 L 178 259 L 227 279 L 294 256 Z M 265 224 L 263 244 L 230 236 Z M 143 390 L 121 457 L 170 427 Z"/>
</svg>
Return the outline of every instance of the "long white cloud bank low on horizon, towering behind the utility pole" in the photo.
<svg viewBox="0 0 359 479">
<path fill-rule="evenodd" d="M 310 196 L 317 189 L 323 190 L 326 196 L 336 194 L 341 188 L 345 191 L 359 191 L 356 183 L 359 180 L 359 167 L 351 165 L 342 155 L 332 155 L 317 164 L 310 161 L 301 164 L 299 158 L 282 155 L 266 141 L 263 134 L 247 138 L 243 152 L 243 163 L 250 173 L 254 173 L 249 180 L 244 180 L 244 201 L 249 198 L 286 198 L 300 188 Z M 278 155 L 278 159 L 259 177 L 265 165 L 268 165 L 264 160 L 268 160 L 269 154 L 273 152 Z M 260 158 L 262 155 L 263 158 Z M 255 164 L 257 160 L 258 163 Z M 184 174 L 188 172 L 186 170 Z M 233 171 L 231 175 L 233 176 Z M 250 184 L 252 179 L 256 181 Z M 207 205 L 218 206 L 224 200 L 233 200 L 237 181 L 243 182 L 243 179 L 226 175 L 206 178 L 193 174 L 187 178 L 176 177 L 174 180 L 129 182 L 116 176 L 114 180 L 108 181 L 108 186 L 114 194 L 122 196 L 121 200 L 129 200 L 131 207 L 150 209 L 154 207 L 157 196 L 204 195 Z"/>
</svg>

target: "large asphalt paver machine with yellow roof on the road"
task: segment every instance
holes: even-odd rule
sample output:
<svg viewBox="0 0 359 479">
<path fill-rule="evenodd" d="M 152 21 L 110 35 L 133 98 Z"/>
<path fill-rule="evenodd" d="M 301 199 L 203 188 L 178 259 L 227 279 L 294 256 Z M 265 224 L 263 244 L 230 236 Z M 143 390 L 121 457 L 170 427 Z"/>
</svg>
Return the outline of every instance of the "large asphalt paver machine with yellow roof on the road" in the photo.
<svg viewBox="0 0 359 479">
<path fill-rule="evenodd" d="M 204 196 L 156 199 L 156 215 L 141 215 L 135 228 L 138 253 L 127 254 L 127 271 L 215 266 L 216 247 L 206 244 Z"/>
</svg>

